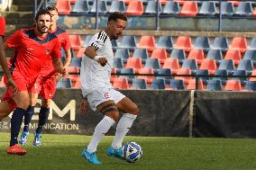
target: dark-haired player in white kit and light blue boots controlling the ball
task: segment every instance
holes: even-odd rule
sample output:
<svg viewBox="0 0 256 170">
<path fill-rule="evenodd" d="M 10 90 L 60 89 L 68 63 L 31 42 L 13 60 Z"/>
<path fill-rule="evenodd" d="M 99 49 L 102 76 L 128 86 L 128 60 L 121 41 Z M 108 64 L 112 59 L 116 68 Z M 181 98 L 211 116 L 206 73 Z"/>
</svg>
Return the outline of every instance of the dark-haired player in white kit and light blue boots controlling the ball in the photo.
<svg viewBox="0 0 256 170">
<path fill-rule="evenodd" d="M 110 40 L 117 40 L 125 29 L 127 18 L 123 13 L 112 13 L 108 17 L 105 31 L 96 33 L 85 51 L 82 59 L 80 78 L 83 100 L 80 112 L 86 112 L 88 104 L 94 111 L 105 116 L 95 128 L 93 137 L 82 152 L 91 164 L 101 164 L 96 157 L 96 148 L 105 133 L 115 121 L 119 120 L 119 110 L 124 112 L 116 126 L 114 140 L 106 154 L 109 157 L 121 158 L 123 138 L 133 125 L 138 114 L 138 107 L 128 97 L 114 90 L 110 83 L 114 53 Z"/>
</svg>

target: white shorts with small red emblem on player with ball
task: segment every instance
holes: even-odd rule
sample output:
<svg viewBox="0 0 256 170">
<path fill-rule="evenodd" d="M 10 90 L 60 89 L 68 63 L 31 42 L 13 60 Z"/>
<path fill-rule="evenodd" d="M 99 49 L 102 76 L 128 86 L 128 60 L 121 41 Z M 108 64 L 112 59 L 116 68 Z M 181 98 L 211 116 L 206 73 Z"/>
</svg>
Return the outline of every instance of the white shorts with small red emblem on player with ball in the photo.
<svg viewBox="0 0 256 170">
<path fill-rule="evenodd" d="M 87 94 L 87 101 L 93 111 L 96 111 L 96 106 L 105 101 L 114 101 L 114 103 L 119 103 L 125 95 L 114 90 L 113 88 L 100 87 L 94 92 Z"/>
</svg>

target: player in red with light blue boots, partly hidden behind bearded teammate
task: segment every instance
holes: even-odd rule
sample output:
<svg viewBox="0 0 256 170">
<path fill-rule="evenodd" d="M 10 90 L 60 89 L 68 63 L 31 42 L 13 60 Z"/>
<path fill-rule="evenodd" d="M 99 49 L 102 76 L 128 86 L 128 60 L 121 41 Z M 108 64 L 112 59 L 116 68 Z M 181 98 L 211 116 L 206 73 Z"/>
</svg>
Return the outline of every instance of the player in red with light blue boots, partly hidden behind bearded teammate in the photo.
<svg viewBox="0 0 256 170">
<path fill-rule="evenodd" d="M 64 67 L 68 70 L 71 62 L 69 33 L 57 25 L 59 19 L 58 9 L 55 6 L 49 6 L 46 8 L 51 15 L 50 32 L 54 33 L 60 42 L 61 48 L 65 50 L 66 59 L 64 61 Z M 56 83 L 59 81 L 60 76 L 57 74 L 55 68 L 52 66 L 51 58 L 46 60 L 41 68 L 40 76 L 38 76 L 35 91 L 32 93 L 31 105 L 24 116 L 23 134 L 19 143 L 24 145 L 29 135 L 29 124 L 32 121 L 32 115 L 34 114 L 34 106 L 37 102 L 38 95 L 41 95 L 41 109 L 39 112 L 38 127 L 35 130 L 33 139 L 33 146 L 38 147 L 41 145 L 41 130 L 48 120 L 50 112 L 50 101 L 56 92 Z"/>
</svg>

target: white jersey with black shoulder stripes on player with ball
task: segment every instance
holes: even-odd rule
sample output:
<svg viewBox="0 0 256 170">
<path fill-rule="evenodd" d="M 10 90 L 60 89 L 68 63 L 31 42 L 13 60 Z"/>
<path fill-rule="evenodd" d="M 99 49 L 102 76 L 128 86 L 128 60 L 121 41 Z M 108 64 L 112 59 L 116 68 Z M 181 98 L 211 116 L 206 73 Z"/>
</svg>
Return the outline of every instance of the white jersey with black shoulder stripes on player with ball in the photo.
<svg viewBox="0 0 256 170">
<path fill-rule="evenodd" d="M 110 76 L 114 53 L 109 37 L 105 31 L 100 31 L 89 40 L 88 46 L 95 47 L 96 55 L 106 58 L 107 64 L 105 67 L 102 67 L 94 59 L 88 58 L 87 56 L 82 58 L 80 79 L 83 95 L 90 94 L 101 86 L 112 88 Z"/>
</svg>

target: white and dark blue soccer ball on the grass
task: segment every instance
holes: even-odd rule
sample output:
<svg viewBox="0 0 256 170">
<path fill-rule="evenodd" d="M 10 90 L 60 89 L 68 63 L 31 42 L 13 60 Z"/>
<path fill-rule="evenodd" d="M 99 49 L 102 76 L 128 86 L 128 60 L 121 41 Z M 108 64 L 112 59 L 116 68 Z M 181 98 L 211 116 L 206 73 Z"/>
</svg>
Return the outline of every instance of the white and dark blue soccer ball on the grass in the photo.
<svg viewBox="0 0 256 170">
<path fill-rule="evenodd" d="M 122 157 L 130 162 L 134 163 L 142 157 L 142 148 L 136 142 L 127 142 L 122 148 Z"/>
</svg>

